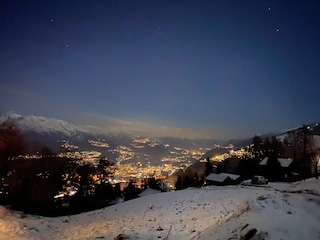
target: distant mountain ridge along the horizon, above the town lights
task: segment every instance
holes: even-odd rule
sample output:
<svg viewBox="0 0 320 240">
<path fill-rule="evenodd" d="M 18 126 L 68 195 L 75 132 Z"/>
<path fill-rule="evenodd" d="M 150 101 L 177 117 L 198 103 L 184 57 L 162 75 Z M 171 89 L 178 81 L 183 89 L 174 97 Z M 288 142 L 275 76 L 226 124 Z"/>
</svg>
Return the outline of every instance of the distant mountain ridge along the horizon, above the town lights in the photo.
<svg viewBox="0 0 320 240">
<path fill-rule="evenodd" d="M 72 142 L 81 143 L 86 142 L 86 139 L 90 138 L 107 138 L 110 142 L 121 145 L 128 145 L 133 138 L 138 137 L 132 133 L 123 133 L 123 132 L 114 132 L 110 129 L 91 126 L 91 125 L 76 125 L 69 123 L 67 121 L 57 119 L 57 118 L 48 118 L 43 116 L 23 116 L 14 112 L 7 112 L 0 115 L 0 124 L 6 120 L 13 121 L 17 127 L 28 136 L 32 141 L 36 140 L 42 142 L 43 144 L 49 144 L 51 148 L 57 148 L 57 140 L 66 139 Z M 312 129 L 312 133 L 315 135 L 320 135 L 320 126 L 317 122 L 306 125 L 308 128 Z M 278 133 L 267 133 L 260 135 L 262 138 L 276 136 L 278 138 L 283 138 L 289 132 L 298 131 L 300 127 L 285 130 Z M 139 136 L 140 138 L 148 138 L 148 136 Z M 233 144 L 235 148 L 241 148 L 248 146 L 251 143 L 252 138 L 243 138 L 243 139 L 231 139 L 227 141 L 218 141 L 215 139 L 192 139 L 186 137 L 157 137 L 163 142 L 169 143 L 170 145 L 176 145 L 178 147 L 192 148 L 196 146 L 214 148 L 214 144 L 224 144 L 229 145 Z M 83 144 L 84 147 L 88 147 L 87 142 Z"/>
</svg>

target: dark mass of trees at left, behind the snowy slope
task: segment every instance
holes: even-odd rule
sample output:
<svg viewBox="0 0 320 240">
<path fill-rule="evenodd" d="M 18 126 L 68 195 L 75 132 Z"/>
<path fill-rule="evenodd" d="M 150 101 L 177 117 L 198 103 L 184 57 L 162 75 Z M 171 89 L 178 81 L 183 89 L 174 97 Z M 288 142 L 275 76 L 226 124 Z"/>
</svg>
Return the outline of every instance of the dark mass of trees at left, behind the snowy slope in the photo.
<svg viewBox="0 0 320 240">
<path fill-rule="evenodd" d="M 97 174 L 109 174 L 108 161 L 101 160 L 97 167 L 79 165 L 78 160 L 58 157 L 46 147 L 42 148 L 40 158 L 19 157 L 27 153 L 26 149 L 24 136 L 13 123 L 0 126 L 2 205 L 56 216 L 105 207 L 122 195 L 119 184 L 93 181 Z M 76 193 L 69 194 L 70 188 Z"/>
</svg>

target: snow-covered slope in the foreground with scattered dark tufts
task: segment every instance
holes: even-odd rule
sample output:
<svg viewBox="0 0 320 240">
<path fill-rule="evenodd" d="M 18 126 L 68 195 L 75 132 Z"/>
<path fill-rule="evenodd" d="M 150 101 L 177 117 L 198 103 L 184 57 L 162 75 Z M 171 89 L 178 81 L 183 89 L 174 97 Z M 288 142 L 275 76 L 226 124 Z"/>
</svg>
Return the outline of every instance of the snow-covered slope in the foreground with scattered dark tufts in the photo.
<svg viewBox="0 0 320 240">
<path fill-rule="evenodd" d="M 45 218 L 0 206 L 0 239 L 320 239 L 320 180 L 157 193 Z"/>
</svg>

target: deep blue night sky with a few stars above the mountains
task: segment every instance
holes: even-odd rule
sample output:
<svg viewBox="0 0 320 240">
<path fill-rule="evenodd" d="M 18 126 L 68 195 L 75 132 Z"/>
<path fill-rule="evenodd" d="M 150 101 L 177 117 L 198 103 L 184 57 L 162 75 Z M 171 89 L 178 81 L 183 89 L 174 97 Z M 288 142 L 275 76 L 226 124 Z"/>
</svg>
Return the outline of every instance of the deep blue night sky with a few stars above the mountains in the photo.
<svg viewBox="0 0 320 240">
<path fill-rule="evenodd" d="M 215 138 L 320 120 L 317 0 L 2 0 L 0 43 L 0 113 Z"/>
</svg>

